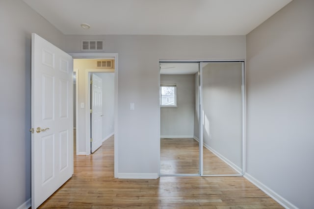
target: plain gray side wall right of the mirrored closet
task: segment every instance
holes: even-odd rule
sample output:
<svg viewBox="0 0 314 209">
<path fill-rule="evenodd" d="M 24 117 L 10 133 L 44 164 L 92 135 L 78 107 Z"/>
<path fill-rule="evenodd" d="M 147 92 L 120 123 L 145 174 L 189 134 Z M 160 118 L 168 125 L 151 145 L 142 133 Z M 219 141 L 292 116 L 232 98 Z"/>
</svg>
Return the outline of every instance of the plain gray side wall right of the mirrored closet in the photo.
<svg viewBox="0 0 314 209">
<path fill-rule="evenodd" d="M 247 173 L 314 208 L 314 1 L 293 0 L 247 35 Z"/>
</svg>

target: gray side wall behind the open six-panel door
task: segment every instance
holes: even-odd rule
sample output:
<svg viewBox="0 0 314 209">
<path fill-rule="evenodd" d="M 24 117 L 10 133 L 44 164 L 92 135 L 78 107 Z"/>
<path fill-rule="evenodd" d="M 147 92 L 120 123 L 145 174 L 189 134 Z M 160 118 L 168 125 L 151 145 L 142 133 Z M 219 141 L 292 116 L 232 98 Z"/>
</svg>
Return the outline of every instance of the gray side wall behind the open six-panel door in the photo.
<svg viewBox="0 0 314 209">
<path fill-rule="evenodd" d="M 64 35 L 21 0 L 0 1 L 0 208 L 30 198 L 31 33 L 64 48 Z"/>
</svg>

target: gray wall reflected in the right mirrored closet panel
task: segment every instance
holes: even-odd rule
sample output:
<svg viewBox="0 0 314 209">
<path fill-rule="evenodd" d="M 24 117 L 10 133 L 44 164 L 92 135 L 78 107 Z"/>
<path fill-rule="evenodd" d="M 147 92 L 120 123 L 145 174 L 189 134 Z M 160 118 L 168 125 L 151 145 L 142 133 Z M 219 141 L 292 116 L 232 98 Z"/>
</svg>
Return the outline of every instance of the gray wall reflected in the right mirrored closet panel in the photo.
<svg viewBox="0 0 314 209">
<path fill-rule="evenodd" d="M 203 67 L 203 141 L 242 169 L 242 63 Z"/>
</svg>

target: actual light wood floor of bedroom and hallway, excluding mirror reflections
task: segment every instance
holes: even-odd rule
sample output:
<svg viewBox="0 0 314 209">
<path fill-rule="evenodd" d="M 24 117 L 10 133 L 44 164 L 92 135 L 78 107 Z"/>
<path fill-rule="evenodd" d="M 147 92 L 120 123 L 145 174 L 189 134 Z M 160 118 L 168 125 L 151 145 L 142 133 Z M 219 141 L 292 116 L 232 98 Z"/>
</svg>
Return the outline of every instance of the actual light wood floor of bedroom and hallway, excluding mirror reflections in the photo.
<svg viewBox="0 0 314 209">
<path fill-rule="evenodd" d="M 113 137 L 74 157 L 74 175 L 40 209 L 282 209 L 243 177 L 115 179 Z"/>
</svg>

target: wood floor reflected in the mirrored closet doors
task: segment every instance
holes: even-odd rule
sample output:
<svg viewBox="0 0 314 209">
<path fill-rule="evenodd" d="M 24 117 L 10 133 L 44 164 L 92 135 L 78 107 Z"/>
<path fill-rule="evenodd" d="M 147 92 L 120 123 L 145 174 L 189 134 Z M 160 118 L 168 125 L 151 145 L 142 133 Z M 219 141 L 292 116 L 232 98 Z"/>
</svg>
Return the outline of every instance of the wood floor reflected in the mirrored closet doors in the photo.
<svg viewBox="0 0 314 209">
<path fill-rule="evenodd" d="M 203 147 L 205 175 L 239 174 L 227 163 Z M 198 174 L 199 142 L 192 138 L 160 139 L 161 174 Z"/>
</svg>

